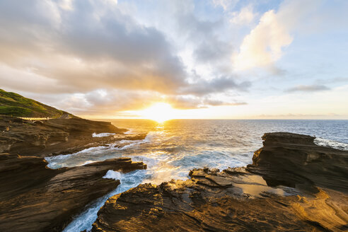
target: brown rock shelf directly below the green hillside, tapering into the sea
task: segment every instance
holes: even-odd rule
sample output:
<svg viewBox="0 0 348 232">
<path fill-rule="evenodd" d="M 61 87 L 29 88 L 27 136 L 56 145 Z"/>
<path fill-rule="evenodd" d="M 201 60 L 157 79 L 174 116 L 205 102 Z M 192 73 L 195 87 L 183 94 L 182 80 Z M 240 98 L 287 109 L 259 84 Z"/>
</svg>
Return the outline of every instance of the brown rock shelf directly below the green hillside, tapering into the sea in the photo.
<svg viewBox="0 0 348 232">
<path fill-rule="evenodd" d="M 146 134 L 129 137 L 127 129 L 110 122 L 97 122 L 81 118 L 53 119 L 31 122 L 0 115 L 0 153 L 23 156 L 52 156 L 75 153 L 91 146 L 122 139 L 144 139 Z M 115 133 L 112 137 L 92 137 L 93 133 Z"/>
</svg>

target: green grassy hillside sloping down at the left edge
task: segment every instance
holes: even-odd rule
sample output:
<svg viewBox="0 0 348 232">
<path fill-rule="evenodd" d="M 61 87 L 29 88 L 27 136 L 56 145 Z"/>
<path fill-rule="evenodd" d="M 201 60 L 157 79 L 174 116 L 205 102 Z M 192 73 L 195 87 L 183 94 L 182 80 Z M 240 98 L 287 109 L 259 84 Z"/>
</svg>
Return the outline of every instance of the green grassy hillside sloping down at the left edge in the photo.
<svg viewBox="0 0 348 232">
<path fill-rule="evenodd" d="M 13 117 L 74 117 L 49 105 L 0 89 L 0 115 Z"/>
</svg>

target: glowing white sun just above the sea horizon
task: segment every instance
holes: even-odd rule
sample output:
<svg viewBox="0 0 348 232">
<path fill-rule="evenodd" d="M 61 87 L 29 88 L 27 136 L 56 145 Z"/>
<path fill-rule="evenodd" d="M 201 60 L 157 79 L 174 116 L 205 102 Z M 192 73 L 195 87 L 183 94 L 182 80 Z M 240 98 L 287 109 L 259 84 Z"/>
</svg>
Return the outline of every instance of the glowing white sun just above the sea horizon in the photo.
<svg viewBox="0 0 348 232">
<path fill-rule="evenodd" d="M 155 120 L 156 122 L 164 122 L 171 120 L 174 117 L 174 109 L 168 103 L 155 103 L 150 108 L 141 110 L 140 115 L 149 120 Z"/>
</svg>

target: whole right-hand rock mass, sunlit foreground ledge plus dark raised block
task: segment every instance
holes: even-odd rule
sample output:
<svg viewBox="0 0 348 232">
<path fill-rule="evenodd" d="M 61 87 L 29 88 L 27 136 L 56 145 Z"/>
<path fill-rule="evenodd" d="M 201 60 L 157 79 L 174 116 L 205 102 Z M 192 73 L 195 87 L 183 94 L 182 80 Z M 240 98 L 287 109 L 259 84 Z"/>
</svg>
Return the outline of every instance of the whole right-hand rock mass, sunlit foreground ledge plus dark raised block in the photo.
<svg viewBox="0 0 348 232">
<path fill-rule="evenodd" d="M 92 231 L 347 231 L 347 152 L 298 134 L 263 139 L 247 169 L 196 169 L 110 197 Z"/>
</svg>

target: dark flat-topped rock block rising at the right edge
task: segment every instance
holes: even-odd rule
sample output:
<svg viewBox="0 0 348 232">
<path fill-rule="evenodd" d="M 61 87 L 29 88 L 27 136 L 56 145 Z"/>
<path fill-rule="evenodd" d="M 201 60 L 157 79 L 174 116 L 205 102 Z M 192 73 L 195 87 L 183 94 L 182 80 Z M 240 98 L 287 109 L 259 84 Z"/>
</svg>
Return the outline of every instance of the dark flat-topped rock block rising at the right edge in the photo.
<svg viewBox="0 0 348 232">
<path fill-rule="evenodd" d="M 317 146 L 315 137 L 302 134 L 267 133 L 262 139 L 264 146 L 255 151 L 248 170 L 262 175 L 268 185 L 348 193 L 348 151 Z"/>
</svg>

